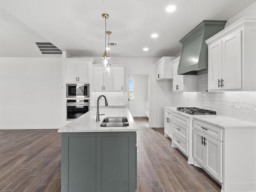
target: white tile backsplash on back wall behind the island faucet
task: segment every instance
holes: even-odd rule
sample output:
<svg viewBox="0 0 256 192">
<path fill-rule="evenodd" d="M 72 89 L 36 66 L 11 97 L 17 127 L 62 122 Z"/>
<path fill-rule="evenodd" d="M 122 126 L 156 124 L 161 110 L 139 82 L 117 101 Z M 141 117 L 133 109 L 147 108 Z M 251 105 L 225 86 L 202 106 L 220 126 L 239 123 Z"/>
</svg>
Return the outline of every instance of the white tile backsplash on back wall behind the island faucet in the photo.
<svg viewBox="0 0 256 192">
<path fill-rule="evenodd" d="M 107 98 L 109 106 L 123 106 L 124 105 L 124 92 L 92 92 L 90 95 L 90 105 L 97 106 L 97 100 L 100 95 Z M 105 106 L 105 99 L 102 98 L 99 102 L 100 106 Z"/>
</svg>

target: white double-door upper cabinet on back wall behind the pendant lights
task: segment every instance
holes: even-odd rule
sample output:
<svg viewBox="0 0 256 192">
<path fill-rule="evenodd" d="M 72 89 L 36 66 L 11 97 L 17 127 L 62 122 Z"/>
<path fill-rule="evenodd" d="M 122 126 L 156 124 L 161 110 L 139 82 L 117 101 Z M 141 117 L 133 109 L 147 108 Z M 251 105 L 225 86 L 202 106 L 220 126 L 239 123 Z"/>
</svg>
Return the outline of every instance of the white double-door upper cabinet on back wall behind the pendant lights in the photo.
<svg viewBox="0 0 256 192">
<path fill-rule="evenodd" d="M 111 75 L 101 67 L 93 68 L 94 91 L 124 91 L 124 67 L 112 67 Z"/>
</svg>

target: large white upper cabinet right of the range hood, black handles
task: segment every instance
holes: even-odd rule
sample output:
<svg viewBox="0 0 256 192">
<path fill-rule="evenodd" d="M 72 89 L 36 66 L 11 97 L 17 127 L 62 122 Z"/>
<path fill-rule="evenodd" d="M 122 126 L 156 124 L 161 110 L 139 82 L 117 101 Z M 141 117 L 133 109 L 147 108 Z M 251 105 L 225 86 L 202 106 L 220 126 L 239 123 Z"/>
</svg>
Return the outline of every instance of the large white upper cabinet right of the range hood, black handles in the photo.
<svg viewBox="0 0 256 192">
<path fill-rule="evenodd" d="M 209 91 L 256 91 L 256 18 L 242 18 L 206 43 Z"/>
</svg>

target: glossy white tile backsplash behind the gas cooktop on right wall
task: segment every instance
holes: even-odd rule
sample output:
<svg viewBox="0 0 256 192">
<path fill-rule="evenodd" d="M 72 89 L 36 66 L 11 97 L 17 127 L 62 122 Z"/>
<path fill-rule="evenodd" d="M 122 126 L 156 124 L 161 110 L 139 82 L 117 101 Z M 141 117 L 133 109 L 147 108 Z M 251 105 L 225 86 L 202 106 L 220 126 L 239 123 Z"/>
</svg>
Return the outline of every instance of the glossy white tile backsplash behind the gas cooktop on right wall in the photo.
<svg viewBox="0 0 256 192">
<path fill-rule="evenodd" d="M 198 92 L 184 92 L 184 106 L 195 106 L 214 110 L 219 115 L 256 122 L 256 92 L 206 92 L 208 90 L 208 70 L 198 71 Z M 234 102 L 240 108 L 234 108 Z"/>
</svg>

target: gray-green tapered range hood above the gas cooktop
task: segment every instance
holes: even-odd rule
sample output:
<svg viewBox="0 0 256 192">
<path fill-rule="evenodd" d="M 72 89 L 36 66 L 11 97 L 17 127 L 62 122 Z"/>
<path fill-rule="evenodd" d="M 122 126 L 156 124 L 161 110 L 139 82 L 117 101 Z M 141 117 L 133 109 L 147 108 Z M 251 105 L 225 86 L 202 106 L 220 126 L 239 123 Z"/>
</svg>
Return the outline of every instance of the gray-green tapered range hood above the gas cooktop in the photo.
<svg viewBox="0 0 256 192">
<path fill-rule="evenodd" d="M 223 30 L 226 22 L 203 20 L 180 40 L 182 53 L 178 75 L 196 75 L 198 70 L 208 68 L 208 46 L 204 41 Z"/>
</svg>

